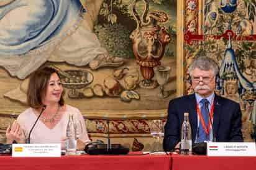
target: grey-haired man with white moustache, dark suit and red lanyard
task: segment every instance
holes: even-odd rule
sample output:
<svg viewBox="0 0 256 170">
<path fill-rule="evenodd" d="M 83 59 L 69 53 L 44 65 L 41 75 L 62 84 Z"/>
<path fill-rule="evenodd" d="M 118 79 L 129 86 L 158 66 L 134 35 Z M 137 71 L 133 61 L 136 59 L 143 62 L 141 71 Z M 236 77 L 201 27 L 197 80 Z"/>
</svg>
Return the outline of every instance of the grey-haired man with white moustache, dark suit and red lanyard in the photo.
<svg viewBox="0 0 256 170">
<path fill-rule="evenodd" d="M 208 141 L 243 141 L 239 104 L 214 93 L 219 68 L 214 60 L 199 56 L 190 65 L 194 94 L 170 101 L 163 148 L 171 151 L 180 142 L 183 114 L 188 112 L 193 143 Z M 198 108 L 198 109 L 197 109 Z M 213 127 L 209 120 L 213 114 Z M 213 133 L 214 130 L 214 133 Z"/>
</svg>

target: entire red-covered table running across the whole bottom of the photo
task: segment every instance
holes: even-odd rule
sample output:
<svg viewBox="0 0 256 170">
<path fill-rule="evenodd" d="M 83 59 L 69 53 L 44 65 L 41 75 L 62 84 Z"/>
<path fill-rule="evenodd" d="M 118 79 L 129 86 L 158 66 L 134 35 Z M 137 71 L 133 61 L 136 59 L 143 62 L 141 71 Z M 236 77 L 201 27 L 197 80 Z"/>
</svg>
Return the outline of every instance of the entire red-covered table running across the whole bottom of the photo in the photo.
<svg viewBox="0 0 256 170">
<path fill-rule="evenodd" d="M 78 155 L 60 158 L 0 156 L 3 170 L 255 170 L 256 156 Z"/>
</svg>

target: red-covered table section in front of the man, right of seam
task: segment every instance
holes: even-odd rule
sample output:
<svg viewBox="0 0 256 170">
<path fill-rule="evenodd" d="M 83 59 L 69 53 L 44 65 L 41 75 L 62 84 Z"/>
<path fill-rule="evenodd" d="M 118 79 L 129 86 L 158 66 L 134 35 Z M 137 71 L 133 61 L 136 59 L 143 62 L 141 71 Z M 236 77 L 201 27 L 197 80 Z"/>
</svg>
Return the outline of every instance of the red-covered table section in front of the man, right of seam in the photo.
<svg viewBox="0 0 256 170">
<path fill-rule="evenodd" d="M 256 156 L 201 156 L 172 154 L 172 170 L 255 170 Z"/>
</svg>

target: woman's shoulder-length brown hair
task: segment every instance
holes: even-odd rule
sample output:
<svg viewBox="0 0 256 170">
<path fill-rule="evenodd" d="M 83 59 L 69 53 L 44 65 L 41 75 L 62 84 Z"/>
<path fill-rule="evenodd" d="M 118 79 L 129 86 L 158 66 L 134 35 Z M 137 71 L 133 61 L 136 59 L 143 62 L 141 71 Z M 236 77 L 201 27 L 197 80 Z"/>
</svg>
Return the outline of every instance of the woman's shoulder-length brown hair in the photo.
<svg viewBox="0 0 256 170">
<path fill-rule="evenodd" d="M 52 76 L 53 73 L 58 74 L 58 71 L 50 67 L 44 67 L 34 71 L 34 73 L 30 75 L 29 87 L 27 89 L 27 104 L 29 107 L 34 109 L 42 107 L 42 99 L 46 94 L 50 76 Z M 58 77 L 60 78 L 59 74 Z M 60 105 L 64 105 L 63 95 L 64 92 L 62 92 L 62 96 L 60 96 L 60 101 L 58 102 Z"/>
</svg>

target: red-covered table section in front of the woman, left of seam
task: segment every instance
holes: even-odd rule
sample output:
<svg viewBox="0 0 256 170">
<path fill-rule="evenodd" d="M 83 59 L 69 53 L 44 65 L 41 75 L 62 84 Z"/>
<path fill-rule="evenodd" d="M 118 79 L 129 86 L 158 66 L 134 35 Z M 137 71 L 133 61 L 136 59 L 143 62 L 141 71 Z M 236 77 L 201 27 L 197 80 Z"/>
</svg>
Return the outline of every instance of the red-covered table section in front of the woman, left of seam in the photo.
<svg viewBox="0 0 256 170">
<path fill-rule="evenodd" d="M 3 170 L 170 170 L 170 155 L 62 156 L 60 158 L 12 158 L 0 156 Z"/>
</svg>

